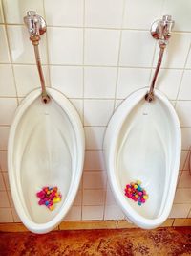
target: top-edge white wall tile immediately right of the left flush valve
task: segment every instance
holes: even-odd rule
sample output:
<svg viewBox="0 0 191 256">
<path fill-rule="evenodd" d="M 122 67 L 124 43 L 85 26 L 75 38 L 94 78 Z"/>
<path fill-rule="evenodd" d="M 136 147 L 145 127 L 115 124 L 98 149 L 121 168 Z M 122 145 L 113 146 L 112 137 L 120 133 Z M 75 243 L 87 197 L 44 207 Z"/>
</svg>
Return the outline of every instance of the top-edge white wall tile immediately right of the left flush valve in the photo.
<svg viewBox="0 0 191 256">
<path fill-rule="evenodd" d="M 53 26 L 83 26 L 83 0 L 45 0 L 46 21 Z"/>
</svg>

